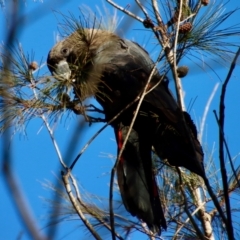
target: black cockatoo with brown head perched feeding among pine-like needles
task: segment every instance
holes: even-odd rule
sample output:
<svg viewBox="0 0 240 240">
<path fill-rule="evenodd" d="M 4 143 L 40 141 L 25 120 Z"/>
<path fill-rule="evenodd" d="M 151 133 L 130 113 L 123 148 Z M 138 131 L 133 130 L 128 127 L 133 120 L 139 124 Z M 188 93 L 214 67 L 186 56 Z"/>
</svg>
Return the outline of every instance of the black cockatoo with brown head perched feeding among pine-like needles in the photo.
<svg viewBox="0 0 240 240">
<path fill-rule="evenodd" d="M 53 75 L 72 82 L 81 101 L 95 96 L 107 121 L 142 93 L 153 68 L 148 53 L 137 43 L 98 29 L 79 29 L 57 43 L 49 52 L 47 64 Z M 155 71 L 150 87 L 161 78 Z M 119 151 L 136 105 L 127 108 L 111 124 Z M 183 115 L 163 79 L 144 97 L 117 166 L 126 209 L 146 222 L 153 232 L 160 233 L 167 224 L 153 171 L 152 147 L 170 164 L 202 177 L 205 174 L 195 125 L 188 113 Z"/>
</svg>

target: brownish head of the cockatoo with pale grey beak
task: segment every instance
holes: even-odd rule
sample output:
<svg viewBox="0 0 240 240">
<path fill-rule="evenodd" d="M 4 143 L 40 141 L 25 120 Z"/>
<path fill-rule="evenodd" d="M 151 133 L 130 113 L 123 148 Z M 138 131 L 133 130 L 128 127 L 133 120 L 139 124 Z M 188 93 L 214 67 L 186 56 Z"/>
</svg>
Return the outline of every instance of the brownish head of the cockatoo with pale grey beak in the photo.
<svg viewBox="0 0 240 240">
<path fill-rule="evenodd" d="M 107 60 L 102 45 L 117 38 L 99 29 L 79 29 L 58 42 L 49 52 L 47 66 L 58 80 L 67 80 L 81 100 L 98 91 Z"/>
</svg>

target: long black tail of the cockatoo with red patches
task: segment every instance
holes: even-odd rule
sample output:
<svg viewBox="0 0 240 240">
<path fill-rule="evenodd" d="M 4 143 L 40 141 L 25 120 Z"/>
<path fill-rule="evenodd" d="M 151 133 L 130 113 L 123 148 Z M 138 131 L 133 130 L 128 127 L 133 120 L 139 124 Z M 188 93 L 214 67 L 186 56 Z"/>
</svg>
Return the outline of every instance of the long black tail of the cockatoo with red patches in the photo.
<svg viewBox="0 0 240 240">
<path fill-rule="evenodd" d="M 122 149 L 128 126 L 115 128 L 118 150 Z M 143 131 L 132 129 L 117 166 L 118 184 L 126 209 L 146 222 L 154 233 L 167 228 L 152 169 L 151 143 Z"/>
</svg>

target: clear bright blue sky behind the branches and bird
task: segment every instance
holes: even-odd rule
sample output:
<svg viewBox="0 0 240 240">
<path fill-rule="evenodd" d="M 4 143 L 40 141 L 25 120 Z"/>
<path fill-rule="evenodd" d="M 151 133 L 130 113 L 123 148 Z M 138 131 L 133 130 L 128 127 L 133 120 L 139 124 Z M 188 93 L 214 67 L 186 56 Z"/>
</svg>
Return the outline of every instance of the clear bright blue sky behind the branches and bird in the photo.
<svg viewBox="0 0 240 240">
<path fill-rule="evenodd" d="M 68 15 L 72 12 L 78 16 L 78 6 L 81 4 L 88 5 L 91 9 L 95 5 L 102 8 L 100 1 L 68 1 L 64 5 L 60 1 L 25 1 L 22 6 L 23 14 L 26 16 L 25 22 L 18 35 L 18 41 L 22 44 L 25 52 L 34 51 L 34 59 L 37 62 L 44 62 L 47 58 L 48 51 L 55 44 L 56 35 L 58 33 L 58 23 L 61 22 L 61 15 L 54 13 L 53 10 Z M 64 2 L 64 1 L 61 1 Z M 130 1 L 118 1 L 122 6 L 126 6 Z M 240 7 L 238 1 L 230 1 L 228 8 Z M 107 7 L 110 9 L 111 6 Z M 131 8 L 130 8 L 131 9 Z M 33 14 L 32 14 L 33 13 Z M 29 17 L 30 16 L 30 17 Z M 232 23 L 238 23 L 239 18 L 235 16 L 232 18 Z M 7 30 L 7 6 L 0 10 L 0 41 L 5 41 L 5 31 Z M 154 42 L 145 35 L 144 28 L 140 24 L 130 25 L 127 32 L 124 32 L 124 37 L 138 41 L 141 45 L 145 45 L 148 40 L 150 43 Z M 240 37 L 237 39 L 240 42 Z M 151 45 L 151 44 L 148 44 Z M 153 47 L 149 47 L 148 51 L 154 54 Z M 207 59 L 206 59 L 207 60 Z M 207 124 L 204 132 L 204 143 L 207 142 L 208 148 L 212 149 L 214 144 L 217 146 L 217 125 L 212 111 L 218 111 L 219 96 L 221 89 L 221 82 L 224 81 L 227 69 L 216 68 L 220 79 L 213 73 L 201 73 L 196 65 L 192 62 L 185 61 L 184 64 L 190 66 L 189 75 L 183 79 L 184 90 L 186 92 L 185 103 L 186 106 L 192 99 L 196 99 L 191 108 L 191 115 L 197 125 L 203 115 L 206 102 L 211 94 L 214 86 L 220 83 L 217 93 L 214 96 L 212 104 L 207 116 Z M 43 68 L 42 72 L 47 72 L 47 68 Z M 226 95 L 226 138 L 230 146 L 232 156 L 236 156 L 240 152 L 240 70 L 239 67 L 233 74 L 230 81 Z M 62 119 L 54 123 L 55 137 L 59 143 L 62 155 L 65 156 L 69 149 L 69 139 L 75 133 L 78 124 L 80 123 L 78 117 L 71 115 L 71 117 Z M 89 140 L 89 138 L 101 128 L 101 124 L 93 124 L 91 127 L 84 128 L 83 132 L 79 133 L 79 137 L 74 139 L 76 148 L 72 150 L 71 159 L 81 150 L 82 146 Z M 0 143 L 2 142 L 0 138 Z M 13 171 L 18 179 L 19 187 L 25 194 L 26 201 L 32 211 L 37 225 L 43 232 L 47 231 L 46 218 L 48 217 L 49 207 L 46 207 L 42 198 L 51 199 L 52 192 L 47 191 L 42 186 L 41 182 L 49 180 L 56 182 L 56 176 L 60 177 L 61 166 L 59 164 L 56 152 L 54 151 L 52 142 L 41 120 L 31 121 L 27 128 L 26 134 L 16 133 L 11 140 Z M 0 148 L 1 149 L 1 148 Z M 107 196 L 109 191 L 109 178 L 111 166 L 114 163 L 114 158 L 110 159 L 108 156 L 116 155 L 116 145 L 114 135 L 111 127 L 105 129 L 86 150 L 80 161 L 77 163 L 73 174 L 82 183 L 82 186 L 93 194 L 100 196 Z M 215 156 L 218 157 L 218 152 L 215 150 Z M 2 157 L 2 156 L 1 156 Z M 69 154 L 68 154 L 69 157 Z M 2 159 L 0 159 L 2 161 Z M 237 161 L 239 163 L 239 160 Z M 238 164 L 239 165 L 239 164 Z M 1 170 L 2 171 L 2 170 Z M 17 239 L 23 233 L 23 240 L 30 239 L 25 232 L 24 226 L 21 224 L 19 216 L 16 214 L 14 204 L 10 198 L 9 191 L 2 174 L 0 176 L 0 239 Z M 239 204 L 239 201 L 237 201 Z M 64 220 L 61 227 L 58 228 L 56 239 L 84 239 L 86 231 L 79 228 L 79 221 Z M 73 233 L 71 233 L 74 231 Z M 69 234 L 68 234 L 69 233 Z M 80 237 L 79 237 L 80 236 Z M 146 239 L 140 236 L 136 239 Z M 86 239 L 88 239 L 86 237 Z"/>
</svg>

